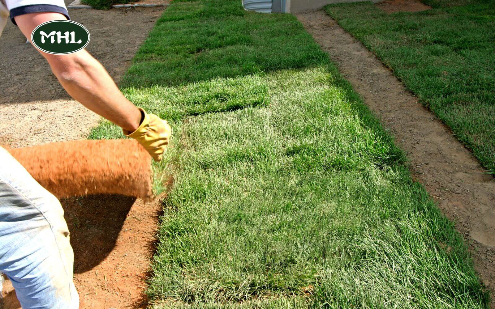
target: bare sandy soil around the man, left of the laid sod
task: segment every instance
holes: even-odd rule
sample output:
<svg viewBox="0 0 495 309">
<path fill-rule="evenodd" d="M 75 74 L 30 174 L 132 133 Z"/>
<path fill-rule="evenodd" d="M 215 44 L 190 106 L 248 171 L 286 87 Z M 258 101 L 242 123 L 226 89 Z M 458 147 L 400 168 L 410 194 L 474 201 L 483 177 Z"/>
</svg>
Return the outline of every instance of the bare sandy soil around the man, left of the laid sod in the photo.
<svg viewBox="0 0 495 309">
<path fill-rule="evenodd" d="M 164 9 L 70 9 L 69 14 L 89 29 L 87 49 L 118 80 Z M 11 23 L 0 38 L 0 55 L 0 144 L 80 139 L 99 122 L 98 115 L 69 97 L 44 58 Z M 144 279 L 160 203 L 113 195 L 61 202 L 71 232 L 80 308 L 145 307 Z M 3 295 L 4 308 L 20 308 L 9 281 Z"/>
</svg>

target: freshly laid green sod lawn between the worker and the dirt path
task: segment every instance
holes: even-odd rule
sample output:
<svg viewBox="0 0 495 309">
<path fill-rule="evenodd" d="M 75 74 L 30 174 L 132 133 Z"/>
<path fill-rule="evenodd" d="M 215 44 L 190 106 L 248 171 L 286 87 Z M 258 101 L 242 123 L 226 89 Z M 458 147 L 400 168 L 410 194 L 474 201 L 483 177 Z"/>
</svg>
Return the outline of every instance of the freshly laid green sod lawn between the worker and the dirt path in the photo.
<svg viewBox="0 0 495 309">
<path fill-rule="evenodd" d="M 174 1 L 120 86 L 174 130 L 152 308 L 488 308 L 453 224 L 294 16 Z"/>
</svg>

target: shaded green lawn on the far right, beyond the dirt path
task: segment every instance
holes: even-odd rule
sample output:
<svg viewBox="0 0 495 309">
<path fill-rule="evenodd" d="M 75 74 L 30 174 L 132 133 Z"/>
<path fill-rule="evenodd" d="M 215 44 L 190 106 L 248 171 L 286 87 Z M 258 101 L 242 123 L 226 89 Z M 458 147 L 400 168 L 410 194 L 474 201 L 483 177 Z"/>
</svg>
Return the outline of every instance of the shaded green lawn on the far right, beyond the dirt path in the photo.
<svg viewBox="0 0 495 309">
<path fill-rule="evenodd" d="M 326 11 L 495 174 L 495 1 L 425 2 L 440 8 L 387 15 L 366 2 Z"/>
</svg>

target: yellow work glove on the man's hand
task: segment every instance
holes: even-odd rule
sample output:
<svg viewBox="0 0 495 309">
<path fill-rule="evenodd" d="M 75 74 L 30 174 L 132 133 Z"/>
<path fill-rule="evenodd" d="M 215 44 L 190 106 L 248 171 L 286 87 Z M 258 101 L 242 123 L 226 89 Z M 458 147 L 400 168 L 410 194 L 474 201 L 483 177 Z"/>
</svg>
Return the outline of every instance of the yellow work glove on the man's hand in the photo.
<svg viewBox="0 0 495 309">
<path fill-rule="evenodd" d="M 160 161 L 161 156 L 170 142 L 172 129 L 166 120 L 147 114 L 144 109 L 139 109 L 143 115 L 143 121 L 134 132 L 122 130 L 126 136 L 136 139 L 155 161 Z"/>
</svg>

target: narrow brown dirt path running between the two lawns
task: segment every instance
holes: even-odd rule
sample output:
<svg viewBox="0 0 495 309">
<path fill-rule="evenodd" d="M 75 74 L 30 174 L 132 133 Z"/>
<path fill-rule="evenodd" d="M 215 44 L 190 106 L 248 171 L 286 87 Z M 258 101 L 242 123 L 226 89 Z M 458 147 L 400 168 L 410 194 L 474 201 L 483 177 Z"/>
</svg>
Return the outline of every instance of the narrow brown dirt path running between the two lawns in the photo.
<svg viewBox="0 0 495 309">
<path fill-rule="evenodd" d="M 475 268 L 495 295 L 495 181 L 449 129 L 366 47 L 323 10 L 296 15 L 396 137 L 414 177 L 456 222 Z M 492 300 L 492 308 L 495 302 Z"/>
</svg>

